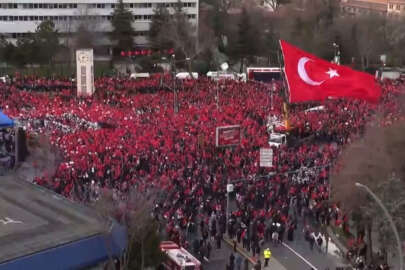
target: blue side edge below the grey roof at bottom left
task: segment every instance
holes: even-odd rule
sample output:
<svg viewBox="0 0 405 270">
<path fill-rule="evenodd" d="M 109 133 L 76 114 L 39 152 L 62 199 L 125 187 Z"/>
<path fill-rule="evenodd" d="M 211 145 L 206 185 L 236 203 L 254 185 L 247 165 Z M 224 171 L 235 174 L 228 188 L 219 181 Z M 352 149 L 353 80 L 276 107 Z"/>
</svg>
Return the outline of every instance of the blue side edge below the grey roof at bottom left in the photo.
<svg viewBox="0 0 405 270">
<path fill-rule="evenodd" d="M 68 270 L 85 269 L 122 256 L 127 245 L 125 227 L 114 222 L 107 235 L 96 235 L 66 245 L 44 250 L 9 262 L 0 270 Z"/>
</svg>

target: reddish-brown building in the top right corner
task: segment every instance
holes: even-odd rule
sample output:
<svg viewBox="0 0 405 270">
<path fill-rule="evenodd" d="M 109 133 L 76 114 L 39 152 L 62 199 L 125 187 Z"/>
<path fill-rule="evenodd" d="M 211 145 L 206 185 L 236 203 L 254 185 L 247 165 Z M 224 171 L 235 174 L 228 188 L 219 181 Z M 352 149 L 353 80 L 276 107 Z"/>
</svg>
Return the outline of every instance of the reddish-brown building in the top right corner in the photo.
<svg viewBox="0 0 405 270">
<path fill-rule="evenodd" d="M 405 15 L 405 0 L 342 0 L 341 7 L 352 15 L 366 13 Z"/>
</svg>

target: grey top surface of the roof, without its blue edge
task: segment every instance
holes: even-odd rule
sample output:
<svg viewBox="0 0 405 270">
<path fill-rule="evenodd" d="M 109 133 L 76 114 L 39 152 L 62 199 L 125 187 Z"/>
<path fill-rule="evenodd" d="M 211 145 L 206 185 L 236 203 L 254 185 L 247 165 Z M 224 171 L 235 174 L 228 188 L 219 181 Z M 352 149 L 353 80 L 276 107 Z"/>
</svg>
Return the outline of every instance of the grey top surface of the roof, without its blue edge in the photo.
<svg viewBox="0 0 405 270">
<path fill-rule="evenodd" d="M 52 191 L 0 179 L 0 269 L 7 261 L 100 235 L 102 224 L 90 209 Z"/>
</svg>

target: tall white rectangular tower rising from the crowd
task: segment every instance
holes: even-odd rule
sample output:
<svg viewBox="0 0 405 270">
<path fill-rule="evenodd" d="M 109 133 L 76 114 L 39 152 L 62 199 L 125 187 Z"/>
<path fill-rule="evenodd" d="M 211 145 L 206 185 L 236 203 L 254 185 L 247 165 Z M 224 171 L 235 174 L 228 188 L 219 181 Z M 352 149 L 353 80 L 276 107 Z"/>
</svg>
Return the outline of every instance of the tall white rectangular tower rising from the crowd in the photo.
<svg viewBox="0 0 405 270">
<path fill-rule="evenodd" d="M 93 49 L 76 51 L 77 96 L 92 96 L 94 93 Z"/>
</svg>

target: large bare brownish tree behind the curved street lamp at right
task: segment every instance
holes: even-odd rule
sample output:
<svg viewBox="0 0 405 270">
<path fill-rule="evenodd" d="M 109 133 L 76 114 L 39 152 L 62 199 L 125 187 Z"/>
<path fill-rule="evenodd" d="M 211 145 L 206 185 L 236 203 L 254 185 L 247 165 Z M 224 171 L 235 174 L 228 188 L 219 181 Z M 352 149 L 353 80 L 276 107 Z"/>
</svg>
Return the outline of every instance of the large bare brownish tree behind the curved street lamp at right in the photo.
<svg viewBox="0 0 405 270">
<path fill-rule="evenodd" d="M 396 243 L 392 229 L 386 223 L 381 209 L 363 190 L 355 187 L 360 182 L 369 187 L 384 203 L 397 227 L 403 228 L 405 220 L 405 170 L 404 124 L 382 128 L 374 124 L 368 127 L 364 138 L 352 143 L 340 156 L 339 171 L 332 175 L 333 199 L 355 217 L 358 233 L 366 233 L 369 258 L 373 246 L 371 233 L 377 231 L 383 248 L 395 252 Z M 395 177 L 393 177 L 393 175 Z M 376 226 L 377 225 L 377 226 Z M 374 229 L 373 229 L 374 228 Z M 404 236 L 404 230 L 399 230 Z"/>
</svg>

